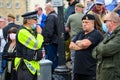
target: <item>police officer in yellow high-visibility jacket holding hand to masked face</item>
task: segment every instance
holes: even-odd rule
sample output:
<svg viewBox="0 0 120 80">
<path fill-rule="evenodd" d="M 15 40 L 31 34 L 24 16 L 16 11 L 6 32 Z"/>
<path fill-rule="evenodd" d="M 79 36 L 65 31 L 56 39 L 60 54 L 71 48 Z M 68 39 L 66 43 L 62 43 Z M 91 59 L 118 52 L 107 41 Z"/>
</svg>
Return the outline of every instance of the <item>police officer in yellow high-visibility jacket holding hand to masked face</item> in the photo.
<svg viewBox="0 0 120 80">
<path fill-rule="evenodd" d="M 14 66 L 17 80 L 37 80 L 40 66 L 37 50 L 43 43 L 42 29 L 37 24 L 37 11 L 23 14 L 24 25 L 16 36 L 16 58 Z"/>
</svg>

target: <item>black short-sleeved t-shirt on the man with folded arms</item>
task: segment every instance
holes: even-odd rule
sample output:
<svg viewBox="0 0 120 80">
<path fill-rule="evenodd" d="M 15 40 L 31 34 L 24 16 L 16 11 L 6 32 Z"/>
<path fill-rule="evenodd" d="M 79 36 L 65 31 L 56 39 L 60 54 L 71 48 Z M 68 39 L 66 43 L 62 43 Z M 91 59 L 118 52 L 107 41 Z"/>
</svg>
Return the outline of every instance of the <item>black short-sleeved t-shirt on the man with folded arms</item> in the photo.
<svg viewBox="0 0 120 80">
<path fill-rule="evenodd" d="M 88 39 L 92 44 L 83 50 L 76 50 L 75 62 L 74 62 L 74 73 L 95 75 L 96 74 L 96 60 L 92 58 L 92 50 L 95 46 L 102 41 L 103 37 L 97 30 L 93 30 L 88 34 L 84 34 L 84 31 L 80 32 L 73 42 L 77 40 Z"/>
</svg>

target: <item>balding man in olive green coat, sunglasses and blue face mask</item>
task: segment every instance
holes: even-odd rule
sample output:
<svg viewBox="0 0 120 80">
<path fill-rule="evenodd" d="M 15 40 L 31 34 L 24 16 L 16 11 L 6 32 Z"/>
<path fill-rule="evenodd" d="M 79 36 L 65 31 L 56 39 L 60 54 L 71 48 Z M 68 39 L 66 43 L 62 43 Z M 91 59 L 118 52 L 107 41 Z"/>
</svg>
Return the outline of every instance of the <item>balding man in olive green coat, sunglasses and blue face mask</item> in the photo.
<svg viewBox="0 0 120 80">
<path fill-rule="evenodd" d="M 107 25 L 108 33 L 93 51 L 93 57 L 98 59 L 97 80 L 120 80 L 119 15 L 115 12 L 108 13 L 104 22 Z"/>
</svg>

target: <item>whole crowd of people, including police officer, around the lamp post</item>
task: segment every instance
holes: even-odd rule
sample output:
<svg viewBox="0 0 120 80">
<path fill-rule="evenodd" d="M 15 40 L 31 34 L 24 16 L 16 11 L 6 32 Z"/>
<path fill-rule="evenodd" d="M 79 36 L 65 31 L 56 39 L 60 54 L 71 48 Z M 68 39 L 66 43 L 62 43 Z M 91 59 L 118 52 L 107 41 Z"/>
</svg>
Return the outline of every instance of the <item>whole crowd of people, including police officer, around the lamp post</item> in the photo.
<svg viewBox="0 0 120 80">
<path fill-rule="evenodd" d="M 65 47 L 70 49 L 72 80 L 119 80 L 120 0 L 67 1 L 64 26 L 70 37 Z M 21 25 L 12 14 L 0 18 L 1 80 L 37 80 L 43 48 L 53 63 L 51 73 L 58 66 L 58 14 L 50 2 L 45 11 L 37 7 L 23 14 Z"/>
</svg>

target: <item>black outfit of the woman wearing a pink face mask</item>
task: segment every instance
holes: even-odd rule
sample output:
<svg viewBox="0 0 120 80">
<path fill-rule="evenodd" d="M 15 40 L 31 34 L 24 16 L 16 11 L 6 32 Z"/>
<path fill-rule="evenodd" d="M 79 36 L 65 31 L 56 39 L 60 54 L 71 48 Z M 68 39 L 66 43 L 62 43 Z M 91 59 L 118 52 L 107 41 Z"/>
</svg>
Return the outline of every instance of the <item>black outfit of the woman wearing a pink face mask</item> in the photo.
<svg viewBox="0 0 120 80">
<path fill-rule="evenodd" d="M 8 49 L 10 47 L 11 42 L 7 42 L 5 47 L 4 47 L 4 51 L 2 53 L 2 63 L 4 63 L 4 65 L 2 65 L 2 68 L 4 69 L 5 72 L 5 80 L 17 80 L 16 78 L 16 71 L 13 69 L 14 68 L 14 58 L 15 58 L 15 54 L 16 54 L 16 47 L 14 48 L 13 52 L 8 52 Z M 6 62 L 7 61 L 7 62 Z M 12 61 L 11 64 L 11 73 L 8 72 L 8 61 Z"/>
</svg>

